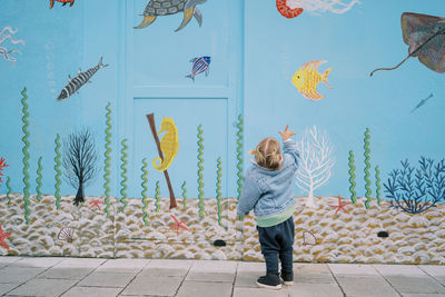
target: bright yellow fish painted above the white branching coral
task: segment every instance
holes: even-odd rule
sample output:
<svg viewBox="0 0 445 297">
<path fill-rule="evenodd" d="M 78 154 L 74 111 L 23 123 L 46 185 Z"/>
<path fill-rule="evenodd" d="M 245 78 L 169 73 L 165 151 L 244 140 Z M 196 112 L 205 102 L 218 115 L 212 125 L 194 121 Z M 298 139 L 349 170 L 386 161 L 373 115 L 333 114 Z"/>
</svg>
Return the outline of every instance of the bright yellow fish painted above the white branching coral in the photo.
<svg viewBox="0 0 445 297">
<path fill-rule="evenodd" d="M 329 88 L 332 88 L 327 82 L 327 76 L 332 69 L 327 69 L 323 75 L 318 73 L 318 67 L 324 62 L 326 61 L 317 60 L 307 62 L 301 66 L 291 78 L 294 86 L 309 100 L 319 100 L 324 98 L 323 95 L 317 92 L 317 86 L 320 81 L 324 81 Z"/>
</svg>

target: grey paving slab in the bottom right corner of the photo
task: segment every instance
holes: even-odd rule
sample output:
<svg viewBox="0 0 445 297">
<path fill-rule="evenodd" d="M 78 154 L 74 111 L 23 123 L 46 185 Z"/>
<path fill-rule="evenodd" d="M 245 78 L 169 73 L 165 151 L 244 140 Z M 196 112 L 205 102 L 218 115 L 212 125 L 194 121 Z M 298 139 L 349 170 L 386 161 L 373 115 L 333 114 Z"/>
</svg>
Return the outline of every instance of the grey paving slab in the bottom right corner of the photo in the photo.
<svg viewBox="0 0 445 297">
<path fill-rule="evenodd" d="M 400 294 L 445 294 L 445 287 L 428 276 L 386 276 Z"/>
</svg>

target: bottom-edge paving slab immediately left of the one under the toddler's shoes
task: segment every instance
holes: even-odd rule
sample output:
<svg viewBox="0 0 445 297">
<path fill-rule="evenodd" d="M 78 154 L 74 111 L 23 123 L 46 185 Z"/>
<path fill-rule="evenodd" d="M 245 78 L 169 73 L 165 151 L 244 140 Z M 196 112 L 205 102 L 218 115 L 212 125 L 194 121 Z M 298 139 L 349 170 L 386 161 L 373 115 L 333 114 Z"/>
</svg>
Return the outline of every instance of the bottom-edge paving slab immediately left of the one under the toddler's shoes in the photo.
<svg viewBox="0 0 445 297">
<path fill-rule="evenodd" d="M 184 281 L 176 297 L 209 296 L 230 297 L 231 284 L 207 283 L 207 281 Z"/>
</svg>

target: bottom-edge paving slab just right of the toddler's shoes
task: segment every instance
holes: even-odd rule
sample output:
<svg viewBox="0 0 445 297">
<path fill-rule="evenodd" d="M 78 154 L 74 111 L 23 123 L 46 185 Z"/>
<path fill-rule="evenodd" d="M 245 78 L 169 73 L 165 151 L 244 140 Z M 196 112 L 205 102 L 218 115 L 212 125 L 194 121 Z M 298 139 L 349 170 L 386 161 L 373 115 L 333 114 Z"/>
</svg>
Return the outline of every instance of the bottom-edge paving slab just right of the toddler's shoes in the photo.
<svg viewBox="0 0 445 297">
<path fill-rule="evenodd" d="M 343 297 L 337 284 L 294 284 L 294 286 L 286 287 L 285 291 L 295 297 Z"/>
</svg>

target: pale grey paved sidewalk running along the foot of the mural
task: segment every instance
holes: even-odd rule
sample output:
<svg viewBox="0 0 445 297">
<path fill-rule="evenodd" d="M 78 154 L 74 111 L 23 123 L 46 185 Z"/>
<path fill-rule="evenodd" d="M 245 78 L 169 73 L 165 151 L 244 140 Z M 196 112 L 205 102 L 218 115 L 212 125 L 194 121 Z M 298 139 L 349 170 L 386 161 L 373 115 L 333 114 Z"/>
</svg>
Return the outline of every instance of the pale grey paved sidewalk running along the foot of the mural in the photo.
<svg viewBox="0 0 445 297">
<path fill-rule="evenodd" d="M 265 264 L 0 257 L 0 296 L 445 296 L 445 266 L 295 264 L 295 284 L 257 288 Z"/>
</svg>

